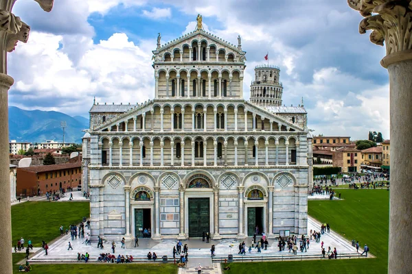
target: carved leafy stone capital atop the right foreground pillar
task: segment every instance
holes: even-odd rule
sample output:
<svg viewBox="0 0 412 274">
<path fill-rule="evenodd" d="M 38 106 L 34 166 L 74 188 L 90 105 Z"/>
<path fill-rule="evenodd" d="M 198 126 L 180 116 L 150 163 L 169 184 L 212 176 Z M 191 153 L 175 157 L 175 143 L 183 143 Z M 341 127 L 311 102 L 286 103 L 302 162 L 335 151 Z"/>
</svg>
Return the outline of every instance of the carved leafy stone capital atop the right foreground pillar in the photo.
<svg viewBox="0 0 412 274">
<path fill-rule="evenodd" d="M 380 64 L 389 64 L 412 59 L 412 1 L 402 0 L 347 0 L 354 10 L 365 18 L 359 24 L 359 32 L 368 29 L 371 42 L 383 46 L 385 41 L 387 56 Z"/>
</svg>

